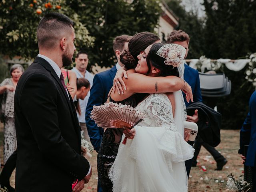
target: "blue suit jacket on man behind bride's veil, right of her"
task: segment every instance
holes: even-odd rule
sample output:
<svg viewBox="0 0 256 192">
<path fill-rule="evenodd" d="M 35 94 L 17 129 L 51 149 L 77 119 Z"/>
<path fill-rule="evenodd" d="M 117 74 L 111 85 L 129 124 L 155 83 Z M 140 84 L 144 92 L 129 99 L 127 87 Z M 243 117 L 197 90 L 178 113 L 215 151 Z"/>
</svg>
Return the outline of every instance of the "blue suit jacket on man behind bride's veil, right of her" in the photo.
<svg viewBox="0 0 256 192">
<path fill-rule="evenodd" d="M 185 64 L 184 70 L 184 80 L 191 86 L 193 93 L 194 102 L 202 102 L 202 95 L 200 90 L 200 81 L 198 70 L 193 69 L 192 67 Z M 183 92 L 182 92 L 183 93 Z M 184 102 L 186 107 L 189 106 L 192 102 L 189 103 L 186 101 L 186 95 L 183 93 Z"/>
</svg>

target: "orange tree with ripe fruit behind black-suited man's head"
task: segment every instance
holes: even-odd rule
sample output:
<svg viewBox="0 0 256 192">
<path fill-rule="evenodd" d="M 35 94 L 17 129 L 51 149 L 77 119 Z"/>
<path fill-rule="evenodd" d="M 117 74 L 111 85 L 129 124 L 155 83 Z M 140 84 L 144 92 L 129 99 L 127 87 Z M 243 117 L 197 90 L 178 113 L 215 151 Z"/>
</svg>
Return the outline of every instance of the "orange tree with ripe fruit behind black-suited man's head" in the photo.
<svg viewBox="0 0 256 192">
<path fill-rule="evenodd" d="M 38 54 L 36 28 L 44 14 L 55 11 L 66 14 L 75 22 L 76 46 L 92 46 L 85 24 L 64 0 L 3 0 L 0 4 L 0 52 L 4 55 L 34 58 Z"/>
</svg>

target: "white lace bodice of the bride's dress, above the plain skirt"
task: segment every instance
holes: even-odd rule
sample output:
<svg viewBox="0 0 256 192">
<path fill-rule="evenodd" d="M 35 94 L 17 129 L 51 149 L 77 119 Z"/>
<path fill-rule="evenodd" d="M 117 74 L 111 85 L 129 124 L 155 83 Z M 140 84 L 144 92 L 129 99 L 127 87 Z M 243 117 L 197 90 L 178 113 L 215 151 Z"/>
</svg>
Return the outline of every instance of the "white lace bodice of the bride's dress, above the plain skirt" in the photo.
<svg viewBox="0 0 256 192">
<path fill-rule="evenodd" d="M 138 104 L 136 109 L 146 114 L 144 120 L 140 122 L 140 126 L 166 127 L 176 131 L 172 104 L 166 94 L 150 94 Z"/>
</svg>

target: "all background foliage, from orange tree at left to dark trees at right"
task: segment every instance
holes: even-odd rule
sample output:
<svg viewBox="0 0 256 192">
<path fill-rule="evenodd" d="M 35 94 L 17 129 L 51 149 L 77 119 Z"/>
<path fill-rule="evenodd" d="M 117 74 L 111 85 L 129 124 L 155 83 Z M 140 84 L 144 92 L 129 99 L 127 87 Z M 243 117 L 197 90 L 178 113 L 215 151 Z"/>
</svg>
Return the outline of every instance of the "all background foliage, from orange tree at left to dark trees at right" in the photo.
<svg viewBox="0 0 256 192">
<path fill-rule="evenodd" d="M 38 54 L 38 22 L 47 12 L 56 11 L 76 22 L 76 48 L 88 52 L 88 68 L 96 64 L 111 67 L 116 62 L 113 39 L 121 34 L 154 32 L 162 14 L 159 3 L 159 0 L 2 0 L 0 53 L 34 58 Z M 204 0 L 205 15 L 201 17 L 196 11 L 186 10 L 182 0 L 166 0 L 166 3 L 179 18 L 176 29 L 190 35 L 188 59 L 202 55 L 211 59 L 240 59 L 256 51 L 255 0 Z M 5 74 L 2 63 L 0 60 L 1 78 Z M 217 71 L 224 71 L 232 81 L 229 96 L 212 99 L 222 113 L 222 128 L 239 129 L 248 112 L 248 101 L 255 87 L 245 80 L 247 68 L 234 72 L 224 67 Z"/>
</svg>

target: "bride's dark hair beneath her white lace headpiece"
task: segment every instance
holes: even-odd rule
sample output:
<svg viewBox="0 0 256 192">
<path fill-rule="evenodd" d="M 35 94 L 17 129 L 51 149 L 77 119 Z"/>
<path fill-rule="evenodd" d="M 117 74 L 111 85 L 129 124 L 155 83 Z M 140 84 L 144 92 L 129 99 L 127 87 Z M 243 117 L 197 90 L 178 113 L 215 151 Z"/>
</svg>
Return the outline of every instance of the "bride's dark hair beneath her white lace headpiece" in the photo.
<svg viewBox="0 0 256 192">
<path fill-rule="evenodd" d="M 177 67 L 173 67 L 172 65 L 166 65 L 164 61 L 165 58 L 157 55 L 157 51 L 163 46 L 162 43 L 155 43 L 150 48 L 148 55 L 147 55 L 147 65 L 148 65 L 148 73 L 151 70 L 151 66 L 158 68 L 160 70 L 159 76 L 166 77 L 166 76 L 179 76 L 179 72 Z"/>
</svg>

